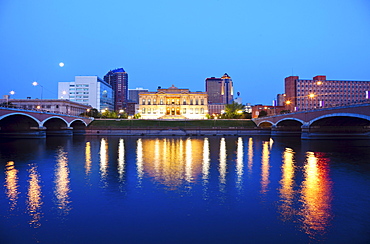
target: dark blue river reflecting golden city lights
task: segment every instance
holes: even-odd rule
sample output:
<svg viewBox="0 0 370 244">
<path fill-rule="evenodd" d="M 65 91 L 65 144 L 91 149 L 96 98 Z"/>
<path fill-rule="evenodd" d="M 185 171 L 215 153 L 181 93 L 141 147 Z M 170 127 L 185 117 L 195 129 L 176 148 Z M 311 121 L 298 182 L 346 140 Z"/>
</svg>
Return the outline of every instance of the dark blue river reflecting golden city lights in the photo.
<svg viewBox="0 0 370 244">
<path fill-rule="evenodd" d="M 370 243 L 370 141 L 0 139 L 0 243 Z"/>
</svg>

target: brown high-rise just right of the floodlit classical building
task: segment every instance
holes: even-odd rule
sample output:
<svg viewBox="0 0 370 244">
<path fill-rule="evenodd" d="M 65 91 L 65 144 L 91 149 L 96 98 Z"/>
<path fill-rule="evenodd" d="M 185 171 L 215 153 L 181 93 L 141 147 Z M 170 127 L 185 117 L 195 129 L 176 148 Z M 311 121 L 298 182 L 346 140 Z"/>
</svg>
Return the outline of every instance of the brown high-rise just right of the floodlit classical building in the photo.
<svg viewBox="0 0 370 244">
<path fill-rule="evenodd" d="M 210 77 L 206 79 L 206 92 L 208 95 L 208 110 L 210 114 L 220 114 L 225 104 L 234 100 L 233 81 L 225 73 L 221 78 Z"/>
</svg>

